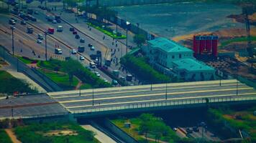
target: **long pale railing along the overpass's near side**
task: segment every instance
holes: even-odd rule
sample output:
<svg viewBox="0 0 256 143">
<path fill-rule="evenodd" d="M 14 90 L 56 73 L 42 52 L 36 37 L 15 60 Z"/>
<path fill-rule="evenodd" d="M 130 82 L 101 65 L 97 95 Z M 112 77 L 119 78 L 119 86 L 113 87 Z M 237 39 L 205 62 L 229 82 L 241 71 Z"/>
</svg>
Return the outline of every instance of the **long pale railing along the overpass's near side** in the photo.
<svg viewBox="0 0 256 143">
<path fill-rule="evenodd" d="M 104 107 L 104 105 L 92 106 L 93 109 L 83 109 L 71 111 L 73 114 L 81 113 L 92 113 L 92 112 L 109 112 L 114 110 L 124 110 L 124 109 L 143 109 L 143 108 L 153 108 L 153 107 L 170 107 L 178 105 L 187 105 L 187 104 L 206 104 L 216 103 L 216 102 L 239 102 L 239 101 L 248 101 L 256 100 L 256 96 L 230 96 L 230 97 L 210 97 L 210 98 L 194 98 L 194 99 L 167 99 L 157 102 L 145 102 L 145 103 L 133 103 L 126 105 L 116 105 L 115 107 Z M 90 107 L 91 108 L 91 107 Z"/>
</svg>

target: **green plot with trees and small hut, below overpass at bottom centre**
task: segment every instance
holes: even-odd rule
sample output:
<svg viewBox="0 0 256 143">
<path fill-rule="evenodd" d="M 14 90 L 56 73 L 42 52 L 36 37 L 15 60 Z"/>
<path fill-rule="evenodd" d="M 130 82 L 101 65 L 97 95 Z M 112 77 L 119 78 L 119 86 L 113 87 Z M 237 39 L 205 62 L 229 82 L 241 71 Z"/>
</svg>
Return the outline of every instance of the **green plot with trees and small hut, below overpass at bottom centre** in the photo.
<svg viewBox="0 0 256 143">
<path fill-rule="evenodd" d="M 153 114 L 141 114 L 139 117 L 130 119 L 119 117 L 111 122 L 139 142 L 181 142 L 183 140 L 165 124 L 163 119 Z M 124 126 L 127 122 L 131 124 L 131 127 Z"/>
</svg>

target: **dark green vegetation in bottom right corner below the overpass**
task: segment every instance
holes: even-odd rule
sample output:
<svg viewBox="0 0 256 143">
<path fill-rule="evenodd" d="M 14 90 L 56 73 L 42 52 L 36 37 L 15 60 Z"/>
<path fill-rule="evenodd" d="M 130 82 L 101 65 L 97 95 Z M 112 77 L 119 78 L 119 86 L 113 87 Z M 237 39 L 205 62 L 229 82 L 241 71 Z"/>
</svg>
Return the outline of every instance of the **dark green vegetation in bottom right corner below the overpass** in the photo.
<svg viewBox="0 0 256 143">
<path fill-rule="evenodd" d="M 242 142 L 256 142 L 256 107 L 209 109 L 208 122 L 224 137 L 239 137 L 239 130 L 249 134 Z M 231 132 L 231 130 L 233 132 Z M 244 134 L 243 134 L 244 135 Z"/>
</svg>

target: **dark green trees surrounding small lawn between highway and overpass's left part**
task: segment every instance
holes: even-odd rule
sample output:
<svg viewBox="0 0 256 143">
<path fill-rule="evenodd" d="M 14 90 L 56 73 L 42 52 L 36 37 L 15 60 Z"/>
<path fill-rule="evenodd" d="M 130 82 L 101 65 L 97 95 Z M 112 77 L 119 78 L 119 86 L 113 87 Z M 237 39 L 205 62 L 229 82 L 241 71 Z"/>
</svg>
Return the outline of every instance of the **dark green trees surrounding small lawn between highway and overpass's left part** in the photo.
<svg viewBox="0 0 256 143">
<path fill-rule="evenodd" d="M 41 71 L 46 69 L 45 75 L 57 84 L 63 85 L 63 87 L 76 87 L 78 79 L 82 81 L 81 89 L 111 87 L 111 84 L 96 77 L 95 74 L 86 69 L 81 63 L 73 59 L 68 61 L 50 59 L 49 61 L 40 61 L 37 66 L 42 68 Z M 58 76 L 62 76 L 62 78 Z"/>
</svg>

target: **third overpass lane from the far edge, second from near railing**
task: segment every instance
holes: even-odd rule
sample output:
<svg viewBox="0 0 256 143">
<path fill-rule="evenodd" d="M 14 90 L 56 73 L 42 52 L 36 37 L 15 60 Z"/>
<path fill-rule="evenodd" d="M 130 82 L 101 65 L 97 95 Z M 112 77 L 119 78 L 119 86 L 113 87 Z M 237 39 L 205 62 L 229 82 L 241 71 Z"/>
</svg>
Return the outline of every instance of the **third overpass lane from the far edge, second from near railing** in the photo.
<svg viewBox="0 0 256 143">
<path fill-rule="evenodd" d="M 201 93 L 180 93 L 180 94 L 167 94 L 168 99 L 175 99 L 175 98 L 189 98 L 189 97 L 209 97 L 209 96 L 218 96 L 218 95 L 227 95 L 227 94 L 234 94 L 236 95 L 236 89 L 233 90 L 234 93 L 230 93 L 227 91 L 221 91 L 221 92 L 201 92 Z M 239 94 L 255 94 L 253 91 L 248 91 L 247 89 L 240 89 Z M 89 97 L 89 96 L 88 96 Z M 91 99 L 86 100 L 75 100 L 73 102 L 72 100 L 69 100 L 65 103 L 60 102 L 61 104 L 65 105 L 65 107 L 76 107 L 76 106 L 86 106 L 91 103 L 92 95 L 90 96 Z M 114 98 L 102 98 L 97 99 L 94 98 L 95 101 L 101 102 L 101 104 L 114 104 L 118 102 L 139 102 L 139 101 L 147 101 L 147 100 L 157 100 L 157 99 L 165 99 L 166 94 L 160 93 L 160 94 L 144 94 L 144 95 L 135 95 L 135 96 L 129 96 L 129 97 L 114 97 Z"/>
</svg>

